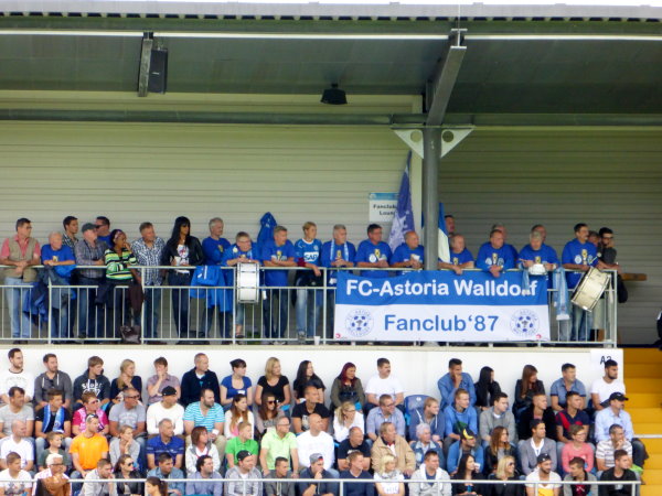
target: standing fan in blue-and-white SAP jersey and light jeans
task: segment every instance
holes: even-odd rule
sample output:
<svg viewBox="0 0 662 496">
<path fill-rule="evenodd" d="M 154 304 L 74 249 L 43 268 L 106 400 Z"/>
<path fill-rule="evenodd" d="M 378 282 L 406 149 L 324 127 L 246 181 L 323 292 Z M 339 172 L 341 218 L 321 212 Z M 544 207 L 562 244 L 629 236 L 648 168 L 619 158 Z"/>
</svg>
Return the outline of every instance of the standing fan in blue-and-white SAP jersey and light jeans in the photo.
<svg viewBox="0 0 662 496">
<path fill-rule="evenodd" d="M 314 287 L 322 285 L 321 263 L 322 241 L 316 239 L 317 225 L 311 222 L 303 224 L 303 237 L 295 242 L 295 258 L 297 266 L 310 270 L 298 270 L 295 285 Z M 306 343 L 306 337 L 314 336 L 317 323 L 320 319 L 320 309 L 323 303 L 322 291 L 297 289 L 297 335 L 299 343 Z"/>
</svg>

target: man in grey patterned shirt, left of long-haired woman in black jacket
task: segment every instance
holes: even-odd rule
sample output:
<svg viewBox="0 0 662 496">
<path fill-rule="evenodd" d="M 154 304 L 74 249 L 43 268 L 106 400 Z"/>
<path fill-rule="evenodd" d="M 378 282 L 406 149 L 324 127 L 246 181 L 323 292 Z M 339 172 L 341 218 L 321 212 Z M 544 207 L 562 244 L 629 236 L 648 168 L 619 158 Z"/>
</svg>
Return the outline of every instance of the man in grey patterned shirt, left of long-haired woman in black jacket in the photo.
<svg viewBox="0 0 662 496">
<path fill-rule="evenodd" d="M 158 267 L 161 265 L 166 241 L 154 233 L 152 223 L 140 224 L 140 238 L 131 244 L 139 266 Z M 142 289 L 145 291 L 145 328 L 142 336 L 146 339 L 159 337 L 159 317 L 161 316 L 161 294 L 159 288 L 163 282 L 163 271 L 160 269 L 142 270 Z M 134 324 L 140 325 L 140 315 Z M 153 342 L 152 342 L 153 343 Z M 151 395 L 150 395 L 151 396 Z"/>
</svg>

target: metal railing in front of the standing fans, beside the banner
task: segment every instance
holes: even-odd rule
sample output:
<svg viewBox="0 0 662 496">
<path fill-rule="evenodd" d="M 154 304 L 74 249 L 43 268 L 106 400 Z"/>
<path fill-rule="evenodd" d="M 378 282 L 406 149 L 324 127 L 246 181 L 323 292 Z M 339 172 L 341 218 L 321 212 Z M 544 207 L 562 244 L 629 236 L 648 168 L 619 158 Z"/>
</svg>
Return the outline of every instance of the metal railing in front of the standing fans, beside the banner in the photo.
<svg viewBox="0 0 662 496">
<path fill-rule="evenodd" d="M 1 267 L 0 267 L 1 268 Z M 38 267 L 42 268 L 42 267 Z M 306 268 L 260 267 L 260 281 L 270 270 L 286 270 L 288 284 L 267 287 L 260 282 L 259 301 L 237 301 L 235 284 L 191 285 L 190 276 L 195 267 L 132 267 L 147 281 L 148 271 L 160 272 L 156 285 L 143 285 L 143 301 L 131 304 L 130 284 L 103 284 L 105 267 L 90 266 L 77 269 L 99 271 L 99 283 L 84 279 L 84 283 L 55 283 L 49 280 L 45 293 L 38 294 L 32 284 L 0 285 L 0 339 L 23 342 L 62 343 L 72 341 L 118 342 L 122 326 L 134 326 L 142 343 L 316 343 L 333 342 L 333 312 L 335 288 L 328 283 L 328 270 L 320 268 L 320 285 L 297 287 L 293 276 Z M 226 280 L 236 281 L 236 269 L 223 267 Z M 333 271 L 343 269 L 332 269 Z M 345 269 L 352 272 L 359 269 Z M 412 269 L 360 269 L 381 270 L 394 273 Z M 467 269 L 467 271 L 477 269 Z M 183 272 L 182 272 L 183 271 Z M 568 271 L 570 272 L 570 271 Z M 604 336 L 586 333 L 583 344 L 616 346 L 617 344 L 617 294 L 616 272 L 610 272 L 610 283 L 599 305 L 604 306 L 600 322 L 592 327 L 604 331 Z M 166 276 L 166 277 L 163 277 Z M 184 283 L 181 283 L 181 282 Z M 178 283 L 179 282 L 179 283 Z M 100 284 L 100 285 L 99 285 Z M 105 299 L 99 302 L 99 293 Z M 547 290 L 551 341 L 537 342 L 538 346 L 577 344 L 570 339 L 569 321 L 557 321 L 554 310 L 556 291 Z M 44 301 L 47 303 L 44 304 Z M 19 302 L 19 303 L 17 303 Z M 41 304 L 39 303 L 41 302 Z M 19 310 L 17 310 L 17 304 Z M 210 306 L 214 304 L 215 306 Z M 132 308 L 134 306 L 134 308 Z M 499 343 L 494 341 L 492 343 Z M 509 342 L 513 343 L 513 342 Z M 516 343 L 516 342 L 515 342 Z M 531 343 L 531 342 L 528 342 Z M 491 344 L 491 343 L 490 343 Z"/>
</svg>

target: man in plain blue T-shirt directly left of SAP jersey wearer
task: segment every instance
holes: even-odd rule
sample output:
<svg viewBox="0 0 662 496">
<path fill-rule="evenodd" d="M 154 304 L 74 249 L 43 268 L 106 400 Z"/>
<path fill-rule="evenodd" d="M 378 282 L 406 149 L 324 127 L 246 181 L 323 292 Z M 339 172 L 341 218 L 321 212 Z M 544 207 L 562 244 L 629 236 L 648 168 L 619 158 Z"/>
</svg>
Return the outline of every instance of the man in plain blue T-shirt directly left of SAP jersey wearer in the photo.
<svg viewBox="0 0 662 496">
<path fill-rule="evenodd" d="M 287 239 L 287 229 L 282 226 L 274 228 L 274 239 L 265 244 L 261 251 L 261 260 L 265 267 L 265 285 L 273 288 L 268 290 L 266 300 L 263 300 L 263 320 L 265 323 L 265 337 L 276 339 L 274 344 L 285 344 L 280 341 L 287 330 L 287 310 L 289 290 L 287 289 L 287 270 L 275 270 L 279 267 L 296 267 L 295 246 Z M 277 315 L 273 319 L 273 312 Z"/>
</svg>

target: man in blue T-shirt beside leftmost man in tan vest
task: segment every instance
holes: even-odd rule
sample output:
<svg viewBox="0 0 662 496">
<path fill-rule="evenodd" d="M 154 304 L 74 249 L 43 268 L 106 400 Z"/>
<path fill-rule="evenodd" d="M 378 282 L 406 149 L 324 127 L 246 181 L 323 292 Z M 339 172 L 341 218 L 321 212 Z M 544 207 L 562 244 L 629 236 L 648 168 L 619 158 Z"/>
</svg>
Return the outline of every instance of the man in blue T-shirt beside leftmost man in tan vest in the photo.
<svg viewBox="0 0 662 496">
<path fill-rule="evenodd" d="M 75 266 L 76 257 L 72 249 L 64 245 L 62 234 L 51 233 L 49 236 L 49 245 L 44 246 L 41 251 L 42 263 L 53 268 L 54 277 L 62 278 L 61 281 L 54 281 L 55 284 L 71 284 L 72 268 L 66 266 Z M 51 299 L 52 319 L 51 337 L 54 339 L 67 339 L 70 333 L 68 309 L 71 299 L 74 292 L 64 289 L 53 289 Z"/>
</svg>

